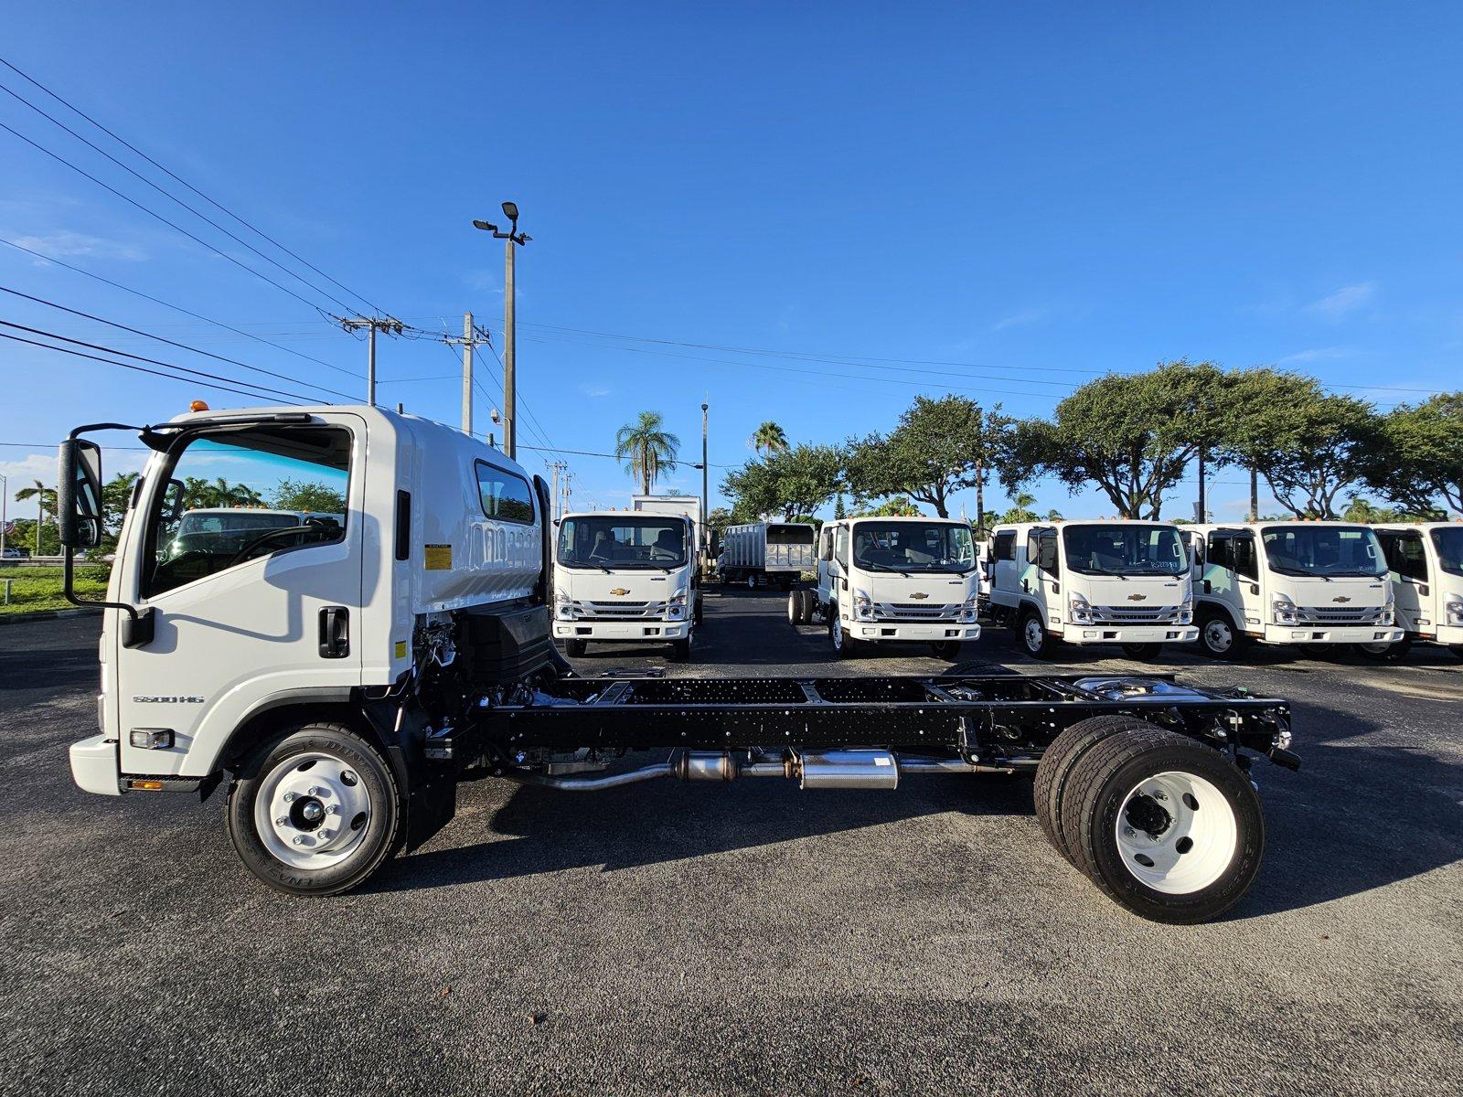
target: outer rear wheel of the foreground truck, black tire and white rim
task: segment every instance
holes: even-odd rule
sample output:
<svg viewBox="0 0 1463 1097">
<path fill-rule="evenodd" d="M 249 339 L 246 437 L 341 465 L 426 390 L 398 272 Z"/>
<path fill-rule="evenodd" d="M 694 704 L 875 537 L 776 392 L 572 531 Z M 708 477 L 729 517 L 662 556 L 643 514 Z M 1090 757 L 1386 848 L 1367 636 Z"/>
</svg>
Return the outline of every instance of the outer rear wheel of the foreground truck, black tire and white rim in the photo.
<svg viewBox="0 0 1463 1097">
<path fill-rule="evenodd" d="M 1254 787 L 1229 759 L 1153 725 L 1109 736 L 1067 778 L 1072 860 L 1140 917 L 1194 924 L 1249 889 L 1265 844 Z"/>
</svg>

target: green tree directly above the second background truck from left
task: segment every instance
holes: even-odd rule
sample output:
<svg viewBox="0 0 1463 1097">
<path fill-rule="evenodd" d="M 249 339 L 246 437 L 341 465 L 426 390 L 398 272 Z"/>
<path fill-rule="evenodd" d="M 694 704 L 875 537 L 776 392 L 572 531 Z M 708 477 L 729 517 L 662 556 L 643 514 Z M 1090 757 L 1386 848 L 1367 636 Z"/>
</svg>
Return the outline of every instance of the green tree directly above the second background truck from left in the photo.
<svg viewBox="0 0 1463 1097">
<path fill-rule="evenodd" d="M 1009 464 L 1012 424 L 999 404 L 986 411 L 967 396 L 916 396 L 890 434 L 849 443 L 849 486 L 865 497 L 909 496 L 941 518 L 949 518 L 955 491 L 974 487 L 983 525 L 985 489 L 992 470 Z"/>
</svg>

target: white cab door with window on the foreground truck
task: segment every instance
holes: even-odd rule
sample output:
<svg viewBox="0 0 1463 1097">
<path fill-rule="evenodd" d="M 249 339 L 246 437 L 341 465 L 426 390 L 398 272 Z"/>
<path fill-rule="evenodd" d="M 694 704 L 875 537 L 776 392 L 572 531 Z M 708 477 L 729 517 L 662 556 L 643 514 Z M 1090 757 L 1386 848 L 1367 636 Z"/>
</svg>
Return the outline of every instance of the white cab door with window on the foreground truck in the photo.
<svg viewBox="0 0 1463 1097">
<path fill-rule="evenodd" d="M 366 423 L 331 418 L 190 431 L 155 462 L 121 576 L 154 622 L 116 652 L 124 774 L 203 775 L 257 708 L 360 685 Z"/>
</svg>

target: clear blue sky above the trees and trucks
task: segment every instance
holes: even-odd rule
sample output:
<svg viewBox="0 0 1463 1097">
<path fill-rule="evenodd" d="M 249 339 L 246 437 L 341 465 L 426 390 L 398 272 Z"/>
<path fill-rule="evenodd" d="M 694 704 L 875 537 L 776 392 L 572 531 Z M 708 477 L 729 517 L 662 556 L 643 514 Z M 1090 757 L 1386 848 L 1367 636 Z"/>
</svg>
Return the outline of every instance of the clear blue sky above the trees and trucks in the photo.
<svg viewBox="0 0 1463 1097">
<path fill-rule="evenodd" d="M 832 442 L 949 389 L 1039 414 L 1096 373 L 1181 355 L 1305 369 L 1384 405 L 1459 386 L 1457 4 L 4 0 L 0 18 L 0 56 L 351 294 L 257 263 L 3 94 L 0 123 L 326 309 L 322 291 L 458 333 L 471 309 L 500 342 L 502 250 L 470 221 L 515 199 L 534 237 L 521 443 L 606 451 L 654 408 L 696 459 L 707 399 L 711 461 L 736 465 L 764 418 Z M 10 70 L 0 83 L 138 164 Z M 0 238 L 336 369 L 7 247 L 0 285 L 363 391 L 338 369 L 363 373 L 364 345 L 301 301 L 3 130 L 0 162 Z M 9 294 L 0 319 L 243 373 Z M 385 339 L 382 402 L 455 423 L 455 354 Z M 241 402 L 12 342 L 0 379 L 0 442 Z M 533 471 L 550 456 L 521 452 Z M 628 502 L 612 461 L 569 461 L 576 505 Z M 0 446 L 13 483 L 50 464 Z M 1213 508 L 1239 516 L 1244 475 L 1216 480 Z M 669 484 L 698 491 L 699 474 Z"/>
</svg>

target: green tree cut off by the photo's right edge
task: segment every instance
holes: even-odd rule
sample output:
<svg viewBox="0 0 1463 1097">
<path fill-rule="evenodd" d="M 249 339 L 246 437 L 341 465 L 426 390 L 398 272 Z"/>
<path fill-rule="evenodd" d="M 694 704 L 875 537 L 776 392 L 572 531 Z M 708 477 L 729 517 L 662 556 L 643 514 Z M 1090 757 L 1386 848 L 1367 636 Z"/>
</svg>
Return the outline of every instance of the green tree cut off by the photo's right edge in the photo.
<svg viewBox="0 0 1463 1097">
<path fill-rule="evenodd" d="M 1412 513 L 1463 513 L 1463 392 L 1399 404 L 1362 455 L 1372 487 Z"/>
</svg>

